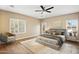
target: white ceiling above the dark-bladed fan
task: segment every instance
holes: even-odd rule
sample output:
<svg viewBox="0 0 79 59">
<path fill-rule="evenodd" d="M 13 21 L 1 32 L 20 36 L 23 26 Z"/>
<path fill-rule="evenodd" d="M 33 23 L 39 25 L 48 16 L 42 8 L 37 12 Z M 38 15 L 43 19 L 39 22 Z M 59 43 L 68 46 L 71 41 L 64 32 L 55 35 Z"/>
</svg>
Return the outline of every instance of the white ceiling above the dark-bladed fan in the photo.
<svg viewBox="0 0 79 59">
<path fill-rule="evenodd" d="M 52 5 L 44 5 L 45 8 L 49 8 Z M 24 15 L 32 16 L 38 19 L 48 18 L 52 16 L 64 15 L 79 12 L 79 5 L 53 5 L 54 9 L 51 9 L 52 13 L 35 12 L 35 10 L 41 10 L 40 5 L 0 5 L 0 9 L 21 13 Z"/>
</svg>

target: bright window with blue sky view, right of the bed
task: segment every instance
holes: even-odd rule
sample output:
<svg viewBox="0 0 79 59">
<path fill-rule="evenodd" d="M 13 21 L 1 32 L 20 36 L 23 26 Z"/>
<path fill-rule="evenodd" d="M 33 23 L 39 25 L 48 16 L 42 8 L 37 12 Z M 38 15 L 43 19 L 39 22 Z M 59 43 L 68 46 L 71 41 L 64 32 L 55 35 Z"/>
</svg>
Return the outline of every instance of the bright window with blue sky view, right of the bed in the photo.
<svg viewBox="0 0 79 59">
<path fill-rule="evenodd" d="M 77 36 L 78 35 L 78 20 L 77 19 L 67 20 L 66 29 L 68 31 L 69 36 Z"/>
</svg>

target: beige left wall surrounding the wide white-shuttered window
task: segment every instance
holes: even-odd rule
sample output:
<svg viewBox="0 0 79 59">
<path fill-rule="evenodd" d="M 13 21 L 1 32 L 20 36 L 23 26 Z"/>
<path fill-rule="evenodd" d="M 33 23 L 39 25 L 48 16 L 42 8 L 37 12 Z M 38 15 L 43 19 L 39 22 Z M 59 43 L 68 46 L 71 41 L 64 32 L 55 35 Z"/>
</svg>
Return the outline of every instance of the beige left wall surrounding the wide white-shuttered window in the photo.
<svg viewBox="0 0 79 59">
<path fill-rule="evenodd" d="M 27 37 L 31 37 L 31 36 L 36 36 L 38 35 L 39 32 L 39 28 L 37 28 L 37 26 L 40 26 L 40 21 L 38 19 L 35 19 L 33 17 L 29 17 L 29 16 L 25 16 L 25 15 L 21 15 L 18 13 L 12 13 L 12 12 L 7 12 L 7 11 L 0 11 L 0 32 L 5 33 L 5 32 L 9 32 L 9 20 L 11 17 L 15 17 L 15 18 L 19 18 L 19 19 L 24 19 L 26 20 L 26 33 L 24 34 L 18 34 L 16 36 L 17 39 L 20 38 L 27 38 Z M 37 30 L 37 32 L 36 32 Z"/>
</svg>

